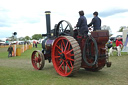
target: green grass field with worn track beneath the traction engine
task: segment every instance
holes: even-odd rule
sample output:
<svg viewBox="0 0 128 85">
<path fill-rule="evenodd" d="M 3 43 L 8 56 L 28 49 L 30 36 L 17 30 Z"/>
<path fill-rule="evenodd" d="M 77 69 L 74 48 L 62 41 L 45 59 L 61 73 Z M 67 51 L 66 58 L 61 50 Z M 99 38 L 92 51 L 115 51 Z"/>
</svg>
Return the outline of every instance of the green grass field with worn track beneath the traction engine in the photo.
<svg viewBox="0 0 128 85">
<path fill-rule="evenodd" d="M 99 72 L 85 71 L 83 68 L 72 77 L 59 76 L 52 63 L 46 61 L 43 70 L 35 70 L 31 64 L 32 48 L 21 56 L 8 58 L 7 48 L 0 48 L 0 85 L 128 85 L 128 54 L 110 57 L 111 68 L 104 67 Z"/>
</svg>

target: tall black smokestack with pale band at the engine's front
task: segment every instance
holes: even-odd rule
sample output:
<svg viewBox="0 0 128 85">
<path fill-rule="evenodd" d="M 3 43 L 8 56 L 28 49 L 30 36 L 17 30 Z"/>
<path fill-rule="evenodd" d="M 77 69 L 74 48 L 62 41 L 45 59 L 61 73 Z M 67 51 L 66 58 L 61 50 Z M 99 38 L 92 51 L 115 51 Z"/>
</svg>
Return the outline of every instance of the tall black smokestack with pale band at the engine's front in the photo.
<svg viewBox="0 0 128 85">
<path fill-rule="evenodd" d="M 47 37 L 51 37 L 51 23 L 50 23 L 50 11 L 45 11 L 45 15 L 46 15 L 46 26 L 47 26 Z"/>
</svg>

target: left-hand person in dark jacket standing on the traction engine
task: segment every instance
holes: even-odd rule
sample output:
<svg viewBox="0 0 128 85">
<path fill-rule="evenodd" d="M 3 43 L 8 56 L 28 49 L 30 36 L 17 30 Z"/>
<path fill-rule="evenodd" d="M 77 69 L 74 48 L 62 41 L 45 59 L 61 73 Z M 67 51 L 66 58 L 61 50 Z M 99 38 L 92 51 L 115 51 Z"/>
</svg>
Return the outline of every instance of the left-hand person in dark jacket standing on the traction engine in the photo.
<svg viewBox="0 0 128 85">
<path fill-rule="evenodd" d="M 79 32 L 81 35 L 88 34 L 88 26 L 87 26 L 87 20 L 84 16 L 84 11 L 79 11 L 80 18 L 78 19 L 78 22 L 75 27 L 79 27 Z"/>
</svg>

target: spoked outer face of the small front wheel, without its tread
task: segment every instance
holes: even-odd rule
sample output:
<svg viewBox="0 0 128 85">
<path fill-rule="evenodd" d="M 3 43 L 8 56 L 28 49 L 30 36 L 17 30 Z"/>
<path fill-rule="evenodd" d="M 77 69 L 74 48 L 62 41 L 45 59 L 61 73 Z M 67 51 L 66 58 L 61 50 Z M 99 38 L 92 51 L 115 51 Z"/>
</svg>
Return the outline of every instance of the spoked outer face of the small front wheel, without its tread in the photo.
<svg viewBox="0 0 128 85">
<path fill-rule="evenodd" d="M 42 66 L 42 57 L 41 53 L 38 51 L 34 51 L 31 56 L 32 65 L 36 70 L 40 70 Z"/>
</svg>

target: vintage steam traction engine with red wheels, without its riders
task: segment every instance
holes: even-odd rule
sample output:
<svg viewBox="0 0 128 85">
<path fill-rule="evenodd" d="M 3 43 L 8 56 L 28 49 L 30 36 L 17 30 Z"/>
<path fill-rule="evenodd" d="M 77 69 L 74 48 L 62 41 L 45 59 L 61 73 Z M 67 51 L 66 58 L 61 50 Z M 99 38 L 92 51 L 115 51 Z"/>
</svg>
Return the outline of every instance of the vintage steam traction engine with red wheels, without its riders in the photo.
<svg viewBox="0 0 128 85">
<path fill-rule="evenodd" d="M 42 41 L 42 51 L 32 53 L 31 61 L 35 69 L 41 70 L 45 60 L 52 62 L 56 72 L 61 76 L 71 76 L 80 67 L 88 71 L 98 71 L 108 61 L 105 44 L 109 32 L 105 30 L 91 32 L 90 35 L 79 35 L 78 29 L 73 29 L 68 21 L 62 20 L 51 30 L 50 11 L 46 11 L 47 36 Z"/>
</svg>

